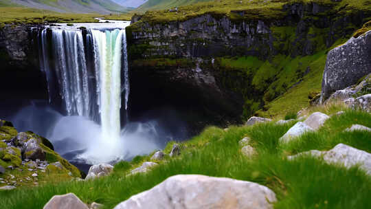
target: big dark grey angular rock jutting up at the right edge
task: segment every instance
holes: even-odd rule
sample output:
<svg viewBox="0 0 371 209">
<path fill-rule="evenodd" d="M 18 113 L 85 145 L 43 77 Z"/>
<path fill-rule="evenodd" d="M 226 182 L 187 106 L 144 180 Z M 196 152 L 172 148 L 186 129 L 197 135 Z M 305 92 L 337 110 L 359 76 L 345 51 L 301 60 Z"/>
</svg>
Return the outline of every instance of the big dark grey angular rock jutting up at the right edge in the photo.
<svg viewBox="0 0 371 209">
<path fill-rule="evenodd" d="M 371 32 L 328 53 L 322 80 L 321 102 L 334 91 L 345 89 L 371 73 Z"/>
</svg>

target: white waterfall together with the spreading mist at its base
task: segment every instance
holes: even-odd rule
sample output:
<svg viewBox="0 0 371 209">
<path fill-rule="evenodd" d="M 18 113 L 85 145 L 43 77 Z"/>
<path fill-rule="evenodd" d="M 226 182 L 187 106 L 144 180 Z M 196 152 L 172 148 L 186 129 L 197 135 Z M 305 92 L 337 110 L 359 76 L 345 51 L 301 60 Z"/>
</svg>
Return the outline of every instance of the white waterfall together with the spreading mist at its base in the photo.
<svg viewBox="0 0 371 209">
<path fill-rule="evenodd" d="M 47 137 L 60 155 L 79 164 L 131 159 L 183 139 L 185 125 L 168 109 L 129 122 L 127 25 L 36 28 L 49 101 L 33 101 L 10 118 L 16 128 Z"/>
</svg>

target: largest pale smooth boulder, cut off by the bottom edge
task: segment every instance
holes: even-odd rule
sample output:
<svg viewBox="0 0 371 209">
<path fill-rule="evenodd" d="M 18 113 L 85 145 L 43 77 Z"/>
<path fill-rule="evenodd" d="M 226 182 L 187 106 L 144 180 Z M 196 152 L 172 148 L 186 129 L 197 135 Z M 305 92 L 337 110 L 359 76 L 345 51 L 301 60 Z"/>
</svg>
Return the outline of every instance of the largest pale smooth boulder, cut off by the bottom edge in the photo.
<svg viewBox="0 0 371 209">
<path fill-rule="evenodd" d="M 176 175 L 134 195 L 115 209 L 262 209 L 273 208 L 275 193 L 265 186 L 228 178 Z"/>
</svg>

